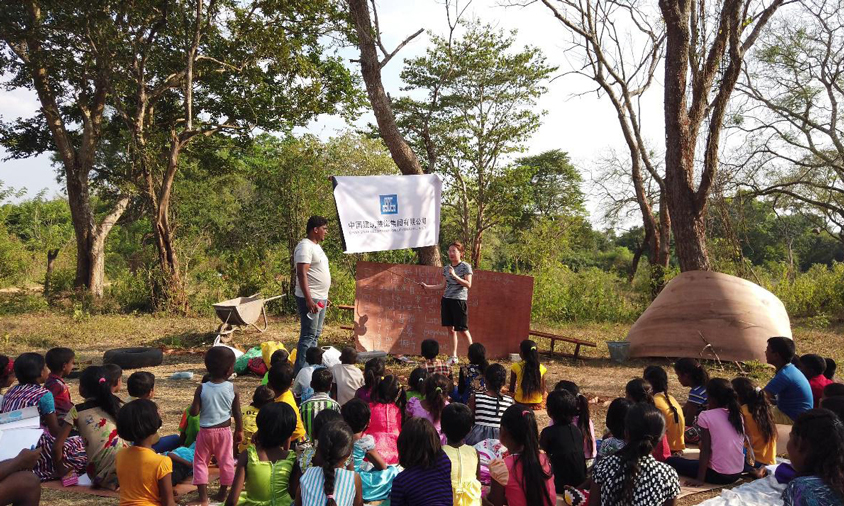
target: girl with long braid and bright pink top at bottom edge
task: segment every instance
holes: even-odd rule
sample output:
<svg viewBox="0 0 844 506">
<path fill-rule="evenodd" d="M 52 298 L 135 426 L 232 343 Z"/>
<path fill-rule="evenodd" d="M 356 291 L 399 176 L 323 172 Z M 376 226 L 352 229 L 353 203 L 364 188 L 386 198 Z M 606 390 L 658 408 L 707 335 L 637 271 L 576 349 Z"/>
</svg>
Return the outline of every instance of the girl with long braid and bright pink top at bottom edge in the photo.
<svg viewBox="0 0 844 506">
<path fill-rule="evenodd" d="M 507 447 L 508 455 L 503 463 L 490 463 L 493 480 L 487 500 L 493 506 L 554 506 L 554 471 L 539 449 L 533 410 L 519 404 L 507 408 L 501 417 L 501 444 Z"/>
</svg>

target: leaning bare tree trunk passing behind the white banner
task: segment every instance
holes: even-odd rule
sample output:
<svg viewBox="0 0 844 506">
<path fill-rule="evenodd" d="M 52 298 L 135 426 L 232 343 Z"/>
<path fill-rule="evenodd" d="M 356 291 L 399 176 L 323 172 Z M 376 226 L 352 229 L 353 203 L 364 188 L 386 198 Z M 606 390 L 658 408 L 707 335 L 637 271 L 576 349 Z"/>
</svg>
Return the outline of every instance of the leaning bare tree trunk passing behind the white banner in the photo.
<svg viewBox="0 0 844 506">
<path fill-rule="evenodd" d="M 402 174 L 424 174 L 425 171 L 422 169 L 419 159 L 399 132 L 390 98 L 384 91 L 384 84 L 381 81 L 381 62 L 378 59 L 375 40 L 372 38 L 373 28 L 367 0 L 348 0 L 348 2 L 349 14 L 355 24 L 358 36 L 361 75 L 366 85 L 366 94 L 369 97 L 369 103 L 372 105 L 372 112 L 375 114 L 375 121 L 378 123 L 381 138 L 390 151 L 393 162 Z M 438 245 L 418 248 L 416 252 L 420 264 L 442 266 Z"/>
</svg>

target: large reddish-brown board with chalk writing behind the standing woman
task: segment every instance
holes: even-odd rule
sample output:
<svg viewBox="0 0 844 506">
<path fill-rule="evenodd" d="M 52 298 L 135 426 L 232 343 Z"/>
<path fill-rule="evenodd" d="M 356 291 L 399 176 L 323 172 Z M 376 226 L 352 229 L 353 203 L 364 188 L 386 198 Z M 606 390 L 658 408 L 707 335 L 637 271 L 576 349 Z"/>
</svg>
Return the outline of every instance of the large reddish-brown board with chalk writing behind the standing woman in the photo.
<svg viewBox="0 0 844 506">
<path fill-rule="evenodd" d="M 425 339 L 436 339 L 440 353 L 453 343 L 440 322 L 442 290 L 423 290 L 417 282 L 437 284 L 442 268 L 424 265 L 358 262 L 355 276 L 355 338 L 358 349 L 391 354 L 420 354 Z M 488 358 L 519 351 L 530 331 L 533 278 L 475 271 L 469 290 L 469 332 L 483 343 Z M 468 343 L 460 339 L 458 354 Z"/>
</svg>

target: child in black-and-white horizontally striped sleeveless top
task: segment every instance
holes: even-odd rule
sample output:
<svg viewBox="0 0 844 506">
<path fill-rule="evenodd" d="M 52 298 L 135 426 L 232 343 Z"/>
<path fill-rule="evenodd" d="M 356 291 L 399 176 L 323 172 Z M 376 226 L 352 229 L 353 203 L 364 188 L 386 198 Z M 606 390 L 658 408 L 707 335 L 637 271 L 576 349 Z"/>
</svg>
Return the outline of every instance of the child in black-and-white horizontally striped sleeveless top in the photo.
<svg viewBox="0 0 844 506">
<path fill-rule="evenodd" d="M 476 445 L 489 439 L 498 440 L 501 415 L 516 401 L 501 390 L 507 382 L 507 370 L 501 364 L 491 364 L 484 374 L 485 392 L 475 392 L 469 398 L 469 409 L 475 415 L 475 426 L 466 436 L 466 444 Z"/>
</svg>

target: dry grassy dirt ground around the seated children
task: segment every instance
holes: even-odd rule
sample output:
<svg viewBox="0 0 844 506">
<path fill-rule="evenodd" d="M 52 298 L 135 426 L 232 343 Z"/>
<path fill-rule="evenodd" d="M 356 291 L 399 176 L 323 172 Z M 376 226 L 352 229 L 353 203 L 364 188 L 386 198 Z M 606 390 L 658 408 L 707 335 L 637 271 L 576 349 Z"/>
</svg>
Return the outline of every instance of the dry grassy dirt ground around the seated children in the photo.
<svg viewBox="0 0 844 506">
<path fill-rule="evenodd" d="M 140 316 L 92 316 L 73 318 L 67 315 L 46 313 L 29 314 L 0 318 L 0 353 L 15 356 L 24 351 L 44 353 L 53 346 L 67 346 L 76 351 L 77 364 L 80 369 L 91 364 L 102 362 L 103 352 L 110 348 L 127 346 L 161 346 L 165 348 L 164 363 L 158 367 L 149 368 L 156 376 L 155 401 L 159 404 L 164 417 L 161 434 L 177 432 L 177 426 L 182 411 L 188 407 L 196 385 L 204 374 L 202 352 L 212 342 L 217 322 L 211 318 L 177 318 L 151 315 Z M 676 381 L 668 359 L 633 360 L 625 364 L 617 364 L 608 358 L 606 341 L 622 339 L 627 333 L 625 325 L 568 325 L 562 328 L 549 329 L 558 334 L 569 335 L 581 339 L 591 340 L 598 344 L 597 348 L 586 348 L 584 357 L 579 360 L 562 358 L 557 355 L 543 356 L 543 363 L 548 367 L 546 383 L 548 388 L 561 379 L 577 383 L 581 391 L 591 400 L 591 416 L 595 423 L 596 433 L 603 432 L 606 405 L 615 397 L 623 395 L 624 385 L 631 378 L 640 376 L 646 365 L 659 364 L 669 371 L 670 393 L 682 403 L 686 399 L 686 392 Z M 832 356 L 839 363 L 844 362 L 842 354 L 840 329 L 816 330 L 809 328 L 795 328 L 795 337 L 799 343 L 800 353 L 821 353 Z M 234 345 L 246 350 L 261 341 L 283 341 L 288 348 L 295 347 L 298 336 L 298 322 L 292 318 L 274 319 L 270 328 L 264 334 L 255 331 L 236 333 Z M 482 336 L 476 339 L 483 342 Z M 341 330 L 339 323 L 329 319 L 326 323 L 321 345 L 341 347 L 351 343 L 348 331 Z M 547 343 L 540 342 L 540 349 L 547 349 Z M 558 345 L 559 346 L 559 345 Z M 562 347 L 560 347 L 562 348 Z M 514 350 L 515 351 L 515 350 Z M 561 350 L 562 351 L 562 350 Z M 571 350 L 568 350 L 571 351 Z M 501 361 L 505 367 L 509 363 Z M 719 367 L 710 365 L 713 376 L 732 378 L 739 374 L 739 369 L 732 365 Z M 405 376 L 409 374 L 411 366 L 392 361 L 388 369 Z M 771 376 L 771 371 L 759 364 L 745 365 L 743 370 L 759 381 L 765 381 Z M 194 373 L 192 380 L 171 380 L 170 375 L 179 371 Z M 131 371 L 124 373 L 124 381 Z M 78 397 L 78 382 L 69 381 L 74 401 Z M 251 393 L 258 385 L 255 376 L 238 377 L 235 385 L 242 392 L 243 397 L 251 397 Z M 125 386 L 121 396 L 125 396 Z M 541 426 L 547 425 L 548 417 L 544 412 L 538 413 Z M 599 436 L 600 437 L 600 436 Z M 680 505 L 697 504 L 700 501 L 718 495 L 709 492 L 687 497 L 678 502 Z M 185 501 L 195 499 L 195 495 L 185 498 Z M 91 496 L 81 496 L 45 490 L 42 496 L 43 504 L 51 506 L 66 506 L 86 504 L 89 506 L 114 505 L 117 500 Z"/>
</svg>

